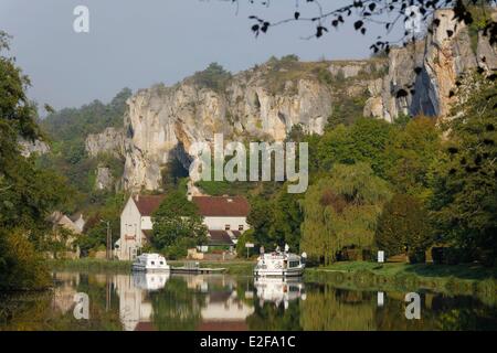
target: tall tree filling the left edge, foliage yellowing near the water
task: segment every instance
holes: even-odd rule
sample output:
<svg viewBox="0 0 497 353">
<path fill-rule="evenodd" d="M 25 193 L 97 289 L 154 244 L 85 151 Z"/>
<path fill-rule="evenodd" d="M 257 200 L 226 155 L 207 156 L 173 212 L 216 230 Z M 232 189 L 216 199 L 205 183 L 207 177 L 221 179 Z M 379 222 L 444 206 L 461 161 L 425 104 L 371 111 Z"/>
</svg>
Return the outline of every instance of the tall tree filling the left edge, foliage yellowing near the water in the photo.
<svg viewBox="0 0 497 353">
<path fill-rule="evenodd" d="M 9 36 L 0 32 L 0 54 L 8 49 Z M 29 84 L 15 60 L 0 55 L 0 287 L 9 289 L 46 286 L 36 249 L 51 229 L 46 217 L 71 196 L 64 178 L 22 156 L 19 138 L 43 139 Z"/>
</svg>

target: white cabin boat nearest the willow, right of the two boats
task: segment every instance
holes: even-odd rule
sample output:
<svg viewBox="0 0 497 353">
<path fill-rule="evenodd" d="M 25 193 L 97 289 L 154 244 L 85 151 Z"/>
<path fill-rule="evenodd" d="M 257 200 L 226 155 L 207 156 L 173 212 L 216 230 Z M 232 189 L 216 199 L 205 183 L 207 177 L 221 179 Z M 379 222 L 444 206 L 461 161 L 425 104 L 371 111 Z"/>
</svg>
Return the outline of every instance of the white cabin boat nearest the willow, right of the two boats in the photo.
<svg viewBox="0 0 497 353">
<path fill-rule="evenodd" d="M 269 254 L 261 254 L 257 258 L 257 265 L 254 268 L 256 277 L 293 277 L 302 276 L 304 272 L 305 254 L 298 256 L 288 252 L 281 253 L 278 250 Z"/>
</svg>

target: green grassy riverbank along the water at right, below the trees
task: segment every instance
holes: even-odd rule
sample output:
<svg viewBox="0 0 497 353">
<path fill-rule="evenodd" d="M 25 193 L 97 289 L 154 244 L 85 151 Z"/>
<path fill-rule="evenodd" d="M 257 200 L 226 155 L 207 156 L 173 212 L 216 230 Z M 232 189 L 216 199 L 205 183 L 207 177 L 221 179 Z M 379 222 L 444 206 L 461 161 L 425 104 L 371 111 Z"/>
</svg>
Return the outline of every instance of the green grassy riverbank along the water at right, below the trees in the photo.
<svg viewBox="0 0 497 353">
<path fill-rule="evenodd" d="M 497 269 L 467 264 L 377 264 L 336 263 L 308 268 L 306 281 L 327 282 L 345 289 L 423 291 L 447 296 L 473 296 L 487 304 L 497 304 Z"/>
</svg>

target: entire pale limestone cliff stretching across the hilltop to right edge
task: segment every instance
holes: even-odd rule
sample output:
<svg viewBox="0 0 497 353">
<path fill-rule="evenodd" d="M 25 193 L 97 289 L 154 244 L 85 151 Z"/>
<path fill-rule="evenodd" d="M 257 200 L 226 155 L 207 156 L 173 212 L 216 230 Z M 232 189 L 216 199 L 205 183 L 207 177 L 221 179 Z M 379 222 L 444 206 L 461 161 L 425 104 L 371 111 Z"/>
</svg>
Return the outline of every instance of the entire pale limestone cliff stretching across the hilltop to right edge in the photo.
<svg viewBox="0 0 497 353">
<path fill-rule="evenodd" d="M 334 108 L 349 98 L 363 98 L 364 116 L 388 121 L 401 114 L 444 116 L 457 76 L 478 64 L 495 68 L 497 56 L 482 35 L 475 51 L 468 29 L 453 20 L 452 11 L 438 11 L 435 19 L 425 40 L 392 49 L 383 60 L 286 57 L 239 73 L 221 88 L 194 75 L 171 87 L 139 90 L 127 101 L 124 130 L 88 137 L 87 151 L 123 158 L 125 189 L 157 190 L 169 160 L 188 167 L 192 142 L 210 142 L 218 132 L 225 140 L 281 141 L 296 125 L 322 133 Z"/>
</svg>

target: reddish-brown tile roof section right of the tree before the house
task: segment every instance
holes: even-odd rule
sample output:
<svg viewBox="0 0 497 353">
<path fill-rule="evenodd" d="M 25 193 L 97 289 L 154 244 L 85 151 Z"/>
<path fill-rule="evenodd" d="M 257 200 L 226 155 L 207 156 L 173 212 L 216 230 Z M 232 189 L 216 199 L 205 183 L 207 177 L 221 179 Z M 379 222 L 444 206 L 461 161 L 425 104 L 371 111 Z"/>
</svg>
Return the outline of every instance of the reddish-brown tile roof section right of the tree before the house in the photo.
<svg viewBox="0 0 497 353">
<path fill-rule="evenodd" d="M 194 196 L 192 201 L 202 216 L 246 217 L 250 205 L 242 196 Z"/>
</svg>

